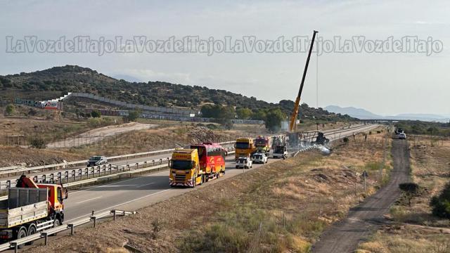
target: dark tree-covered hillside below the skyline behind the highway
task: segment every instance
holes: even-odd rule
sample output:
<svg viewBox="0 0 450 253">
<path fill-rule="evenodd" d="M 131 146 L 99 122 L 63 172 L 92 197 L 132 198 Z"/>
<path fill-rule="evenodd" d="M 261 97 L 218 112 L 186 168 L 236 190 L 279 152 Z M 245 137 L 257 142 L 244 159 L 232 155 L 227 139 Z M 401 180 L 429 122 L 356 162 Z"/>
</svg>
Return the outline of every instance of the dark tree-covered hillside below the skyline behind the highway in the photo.
<svg viewBox="0 0 450 253">
<path fill-rule="evenodd" d="M 255 97 L 246 97 L 219 89 L 208 89 L 201 86 L 186 86 L 170 84 L 168 82 L 127 82 L 123 79 L 114 79 L 105 74 L 98 73 L 87 67 L 65 65 L 52 67 L 30 73 L 9 74 L 0 76 L 0 89 L 22 96 L 28 93 L 27 98 L 43 98 L 42 93 L 49 91 L 85 92 L 93 93 L 107 98 L 138 103 L 150 106 L 181 106 L 186 108 L 200 108 L 205 103 L 236 106 L 236 108 L 250 108 L 253 112 L 269 108 L 281 108 L 286 115 L 290 115 L 293 108 L 292 100 L 281 100 L 280 103 L 267 103 Z M 30 97 L 30 91 L 34 97 Z M 18 95 L 19 94 L 19 95 Z M 302 105 L 302 117 L 328 121 L 348 120 L 351 117 L 336 115 L 326 110 L 309 108 Z"/>
</svg>

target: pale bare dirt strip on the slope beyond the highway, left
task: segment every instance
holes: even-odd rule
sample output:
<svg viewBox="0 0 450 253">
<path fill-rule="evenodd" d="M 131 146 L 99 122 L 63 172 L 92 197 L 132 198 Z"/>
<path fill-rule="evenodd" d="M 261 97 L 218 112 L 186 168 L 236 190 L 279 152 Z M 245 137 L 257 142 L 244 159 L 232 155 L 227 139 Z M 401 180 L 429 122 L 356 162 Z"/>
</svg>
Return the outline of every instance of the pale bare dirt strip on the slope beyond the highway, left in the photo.
<svg viewBox="0 0 450 253">
<path fill-rule="evenodd" d="M 123 134 L 128 131 L 150 129 L 154 126 L 156 125 L 141 124 L 136 122 L 120 124 L 115 126 L 105 126 L 98 129 L 93 129 L 91 131 L 86 131 L 86 133 L 79 134 L 78 136 L 74 136 L 71 138 L 67 138 L 63 141 L 49 143 L 49 145 L 47 145 L 47 148 L 72 148 L 80 145 L 87 145 L 91 143 L 96 143 L 97 141 L 101 141 L 105 137 L 115 136 L 116 134 Z"/>
</svg>

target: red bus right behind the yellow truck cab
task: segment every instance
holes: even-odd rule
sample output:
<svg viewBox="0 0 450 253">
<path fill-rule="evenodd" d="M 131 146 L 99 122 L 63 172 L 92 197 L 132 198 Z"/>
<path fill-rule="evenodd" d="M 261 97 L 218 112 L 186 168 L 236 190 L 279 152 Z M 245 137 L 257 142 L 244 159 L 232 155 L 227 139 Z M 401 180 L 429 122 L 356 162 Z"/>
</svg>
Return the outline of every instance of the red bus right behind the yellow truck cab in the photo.
<svg viewBox="0 0 450 253">
<path fill-rule="evenodd" d="M 218 178 L 225 173 L 225 157 L 227 152 L 219 143 L 202 143 L 191 145 L 191 149 L 198 151 L 200 174 L 203 182 Z"/>
</svg>

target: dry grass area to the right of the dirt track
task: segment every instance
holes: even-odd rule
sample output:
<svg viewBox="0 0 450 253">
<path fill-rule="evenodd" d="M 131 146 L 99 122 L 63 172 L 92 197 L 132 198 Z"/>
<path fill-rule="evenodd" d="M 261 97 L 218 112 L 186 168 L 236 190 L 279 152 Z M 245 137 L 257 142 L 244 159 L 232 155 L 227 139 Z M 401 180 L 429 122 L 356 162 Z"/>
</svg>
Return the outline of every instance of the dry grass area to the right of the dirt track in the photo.
<svg viewBox="0 0 450 253">
<path fill-rule="evenodd" d="M 450 180 L 450 141 L 416 136 L 409 143 L 411 176 L 423 193 L 413 198 L 411 207 L 397 202 L 390 212 L 394 224 L 361 244 L 360 252 L 450 252 L 450 221 L 432 216 L 429 205 L 431 197 L 439 194 Z"/>
</svg>

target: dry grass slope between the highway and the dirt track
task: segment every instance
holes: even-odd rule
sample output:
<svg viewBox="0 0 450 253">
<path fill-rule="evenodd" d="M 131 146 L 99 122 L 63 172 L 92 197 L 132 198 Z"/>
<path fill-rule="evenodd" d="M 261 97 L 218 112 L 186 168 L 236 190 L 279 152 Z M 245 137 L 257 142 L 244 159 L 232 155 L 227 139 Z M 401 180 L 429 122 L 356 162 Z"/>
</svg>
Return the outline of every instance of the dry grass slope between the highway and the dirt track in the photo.
<svg viewBox="0 0 450 253">
<path fill-rule="evenodd" d="M 268 164 L 33 250 L 104 252 L 122 247 L 115 238 L 123 238 L 142 252 L 309 252 L 326 226 L 379 185 L 369 178 L 364 193 L 358 174 L 383 157 L 375 137 L 342 145 L 326 157 L 303 153 Z M 346 161 L 350 153 L 366 162 Z M 155 220 L 163 224 L 156 239 Z"/>
</svg>

